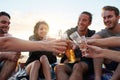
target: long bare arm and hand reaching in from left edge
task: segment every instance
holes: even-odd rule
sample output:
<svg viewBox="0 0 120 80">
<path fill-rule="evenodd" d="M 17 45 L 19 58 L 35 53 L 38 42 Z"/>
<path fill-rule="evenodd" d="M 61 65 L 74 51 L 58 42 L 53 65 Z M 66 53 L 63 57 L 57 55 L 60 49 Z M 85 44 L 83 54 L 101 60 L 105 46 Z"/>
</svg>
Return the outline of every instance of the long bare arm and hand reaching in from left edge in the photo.
<svg viewBox="0 0 120 80">
<path fill-rule="evenodd" d="M 52 51 L 61 53 L 66 49 L 65 40 L 27 41 L 14 37 L 0 38 L 0 51 Z"/>
</svg>

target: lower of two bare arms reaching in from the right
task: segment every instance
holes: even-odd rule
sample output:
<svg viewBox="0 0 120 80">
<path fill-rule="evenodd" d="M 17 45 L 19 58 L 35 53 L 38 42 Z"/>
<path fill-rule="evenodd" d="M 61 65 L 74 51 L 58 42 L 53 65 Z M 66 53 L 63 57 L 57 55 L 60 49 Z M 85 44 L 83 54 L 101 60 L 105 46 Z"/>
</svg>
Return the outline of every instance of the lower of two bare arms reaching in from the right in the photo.
<svg viewBox="0 0 120 80">
<path fill-rule="evenodd" d="M 85 57 L 90 58 L 107 58 L 120 62 L 120 52 L 109 49 L 102 49 L 100 47 L 88 45 L 88 55 Z"/>
</svg>

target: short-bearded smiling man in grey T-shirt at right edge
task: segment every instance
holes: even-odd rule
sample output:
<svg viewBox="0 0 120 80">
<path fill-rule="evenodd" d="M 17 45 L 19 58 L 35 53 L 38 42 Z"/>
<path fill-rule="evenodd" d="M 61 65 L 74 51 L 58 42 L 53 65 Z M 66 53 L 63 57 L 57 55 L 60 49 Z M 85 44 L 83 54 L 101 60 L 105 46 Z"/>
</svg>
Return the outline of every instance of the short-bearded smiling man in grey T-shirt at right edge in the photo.
<svg viewBox="0 0 120 80">
<path fill-rule="evenodd" d="M 105 6 L 103 7 L 102 17 L 106 28 L 93 35 L 92 38 L 107 38 L 111 36 L 119 37 L 120 36 L 119 9 L 114 6 Z M 120 50 L 120 47 L 112 47 L 109 49 Z M 94 59 L 95 80 L 101 80 L 102 63 L 105 63 L 106 68 L 109 70 L 118 70 L 116 69 L 118 65 L 117 62 L 105 59 Z M 116 76 L 113 75 L 112 80 L 119 79 L 117 79 Z"/>
</svg>

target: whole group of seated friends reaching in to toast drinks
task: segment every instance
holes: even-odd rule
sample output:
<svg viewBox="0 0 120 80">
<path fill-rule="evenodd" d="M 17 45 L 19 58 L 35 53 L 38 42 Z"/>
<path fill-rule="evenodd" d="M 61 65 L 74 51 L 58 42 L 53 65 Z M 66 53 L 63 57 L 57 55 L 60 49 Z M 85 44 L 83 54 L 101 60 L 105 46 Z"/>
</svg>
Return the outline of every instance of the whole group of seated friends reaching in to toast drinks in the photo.
<svg viewBox="0 0 120 80">
<path fill-rule="evenodd" d="M 61 58 L 61 63 L 55 66 L 56 80 L 84 80 L 86 75 L 94 74 L 94 80 L 102 80 L 102 64 L 105 68 L 114 71 L 111 80 L 120 80 L 120 12 L 114 6 L 102 8 L 102 18 L 105 29 L 99 32 L 90 30 L 92 14 L 83 11 L 78 18 L 77 26 L 66 31 L 70 35 L 77 31 L 80 36 L 87 39 L 87 55 L 82 56 L 82 51 L 75 45 L 74 52 L 77 60 L 69 63 L 66 55 Z M 30 80 L 38 77 L 51 80 L 50 64 L 56 63 L 56 55 L 65 54 L 66 40 L 46 39 L 49 25 L 39 21 L 34 26 L 30 41 L 11 37 L 8 33 L 10 15 L 0 12 L 0 79 L 7 80 L 14 72 L 21 51 L 29 51 L 25 64 L 25 71 Z M 9 65 L 9 67 L 8 67 Z M 85 79 L 86 80 L 86 79 Z"/>
</svg>

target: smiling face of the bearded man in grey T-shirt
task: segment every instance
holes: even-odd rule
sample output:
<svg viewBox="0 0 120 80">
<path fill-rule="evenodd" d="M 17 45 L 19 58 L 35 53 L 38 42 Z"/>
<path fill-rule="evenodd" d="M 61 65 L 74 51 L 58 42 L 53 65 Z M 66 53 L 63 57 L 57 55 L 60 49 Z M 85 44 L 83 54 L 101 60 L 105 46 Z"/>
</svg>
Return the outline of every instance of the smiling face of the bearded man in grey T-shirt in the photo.
<svg viewBox="0 0 120 80">
<path fill-rule="evenodd" d="M 116 16 L 114 11 L 104 10 L 102 17 L 107 29 L 112 30 L 118 24 L 119 16 Z"/>
</svg>

